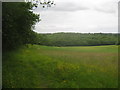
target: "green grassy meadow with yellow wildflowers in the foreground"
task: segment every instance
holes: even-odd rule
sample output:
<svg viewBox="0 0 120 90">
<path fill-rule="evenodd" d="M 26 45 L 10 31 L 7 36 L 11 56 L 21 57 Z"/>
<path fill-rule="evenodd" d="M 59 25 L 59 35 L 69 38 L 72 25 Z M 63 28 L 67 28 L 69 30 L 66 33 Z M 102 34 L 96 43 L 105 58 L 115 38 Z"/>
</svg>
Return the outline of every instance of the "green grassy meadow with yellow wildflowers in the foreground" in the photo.
<svg viewBox="0 0 120 90">
<path fill-rule="evenodd" d="M 118 46 L 29 45 L 3 55 L 4 88 L 115 88 Z"/>
</svg>

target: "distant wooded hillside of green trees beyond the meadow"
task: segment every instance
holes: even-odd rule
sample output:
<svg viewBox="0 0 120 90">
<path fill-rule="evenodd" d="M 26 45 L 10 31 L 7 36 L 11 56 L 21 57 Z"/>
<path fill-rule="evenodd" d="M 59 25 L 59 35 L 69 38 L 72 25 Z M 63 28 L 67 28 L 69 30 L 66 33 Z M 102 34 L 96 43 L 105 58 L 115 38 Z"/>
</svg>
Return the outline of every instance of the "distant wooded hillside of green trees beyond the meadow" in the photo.
<svg viewBox="0 0 120 90">
<path fill-rule="evenodd" d="M 119 34 L 112 33 L 54 33 L 38 34 L 39 45 L 47 46 L 97 46 L 119 45 Z"/>
</svg>

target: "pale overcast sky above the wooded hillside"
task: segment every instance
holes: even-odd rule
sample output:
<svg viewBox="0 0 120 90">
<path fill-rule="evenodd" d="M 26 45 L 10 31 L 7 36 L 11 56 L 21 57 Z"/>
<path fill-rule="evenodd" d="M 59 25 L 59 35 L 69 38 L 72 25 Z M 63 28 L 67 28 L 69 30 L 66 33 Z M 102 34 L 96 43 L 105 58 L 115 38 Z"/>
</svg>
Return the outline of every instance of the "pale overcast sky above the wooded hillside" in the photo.
<svg viewBox="0 0 120 90">
<path fill-rule="evenodd" d="M 119 0 L 54 0 L 56 6 L 37 8 L 38 33 L 117 33 Z"/>
</svg>

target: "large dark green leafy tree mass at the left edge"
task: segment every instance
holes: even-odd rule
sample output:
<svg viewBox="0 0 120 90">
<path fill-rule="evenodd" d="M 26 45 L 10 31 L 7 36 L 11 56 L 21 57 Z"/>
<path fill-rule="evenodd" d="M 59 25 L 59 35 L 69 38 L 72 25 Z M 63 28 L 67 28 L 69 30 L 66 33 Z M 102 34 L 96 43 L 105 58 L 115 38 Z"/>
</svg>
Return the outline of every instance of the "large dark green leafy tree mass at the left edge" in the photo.
<svg viewBox="0 0 120 90">
<path fill-rule="evenodd" d="M 3 51 L 33 43 L 36 35 L 32 31 L 39 15 L 31 11 L 30 2 L 4 2 L 2 4 Z"/>
</svg>

